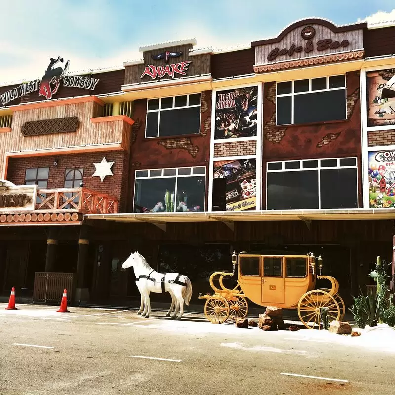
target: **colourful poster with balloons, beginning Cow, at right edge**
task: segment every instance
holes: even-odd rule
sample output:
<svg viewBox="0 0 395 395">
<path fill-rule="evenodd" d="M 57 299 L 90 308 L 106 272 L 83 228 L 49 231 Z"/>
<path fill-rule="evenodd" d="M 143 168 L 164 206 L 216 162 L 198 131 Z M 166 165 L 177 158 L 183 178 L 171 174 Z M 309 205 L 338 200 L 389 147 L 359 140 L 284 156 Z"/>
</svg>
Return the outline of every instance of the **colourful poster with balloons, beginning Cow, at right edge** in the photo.
<svg viewBox="0 0 395 395">
<path fill-rule="evenodd" d="M 395 150 L 370 151 L 369 207 L 395 207 Z"/>
</svg>

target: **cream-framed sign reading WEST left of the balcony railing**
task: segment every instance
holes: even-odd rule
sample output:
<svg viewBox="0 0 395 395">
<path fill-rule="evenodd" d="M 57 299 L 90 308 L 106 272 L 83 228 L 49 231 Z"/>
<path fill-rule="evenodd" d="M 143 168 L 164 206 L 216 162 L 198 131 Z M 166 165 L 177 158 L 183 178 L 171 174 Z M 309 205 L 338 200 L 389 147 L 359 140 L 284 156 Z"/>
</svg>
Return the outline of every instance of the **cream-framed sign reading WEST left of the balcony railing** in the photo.
<svg viewBox="0 0 395 395">
<path fill-rule="evenodd" d="M 0 180 L 0 212 L 34 210 L 37 185 L 14 185 Z"/>
</svg>

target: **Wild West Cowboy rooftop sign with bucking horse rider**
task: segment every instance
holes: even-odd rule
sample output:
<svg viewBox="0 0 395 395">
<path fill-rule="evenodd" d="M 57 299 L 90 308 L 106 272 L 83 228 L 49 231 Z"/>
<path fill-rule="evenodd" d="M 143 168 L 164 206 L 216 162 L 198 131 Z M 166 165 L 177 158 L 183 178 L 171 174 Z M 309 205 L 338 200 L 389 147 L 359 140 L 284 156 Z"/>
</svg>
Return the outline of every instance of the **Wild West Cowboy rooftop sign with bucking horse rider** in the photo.
<svg viewBox="0 0 395 395">
<path fill-rule="evenodd" d="M 58 56 L 57 59 L 51 58 L 50 63 L 45 71 L 42 79 L 36 79 L 27 83 L 23 83 L 16 88 L 10 89 L 0 95 L 2 106 L 14 101 L 15 99 L 28 95 L 29 93 L 39 91 L 39 95 L 50 100 L 58 91 L 60 83 L 65 87 L 82 88 L 94 90 L 99 79 L 84 76 L 66 76 L 70 61 L 67 60 L 64 65 L 64 59 Z M 57 66 L 57 67 L 55 67 Z"/>
</svg>

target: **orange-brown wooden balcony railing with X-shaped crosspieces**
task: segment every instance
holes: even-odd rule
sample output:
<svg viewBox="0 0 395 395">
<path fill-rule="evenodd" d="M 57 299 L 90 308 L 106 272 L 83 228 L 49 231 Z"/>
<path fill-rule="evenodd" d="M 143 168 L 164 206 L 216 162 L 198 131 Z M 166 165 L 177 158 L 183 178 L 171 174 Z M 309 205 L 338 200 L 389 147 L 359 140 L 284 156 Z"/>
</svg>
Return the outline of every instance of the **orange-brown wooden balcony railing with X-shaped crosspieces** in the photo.
<svg viewBox="0 0 395 395">
<path fill-rule="evenodd" d="M 77 211 L 84 214 L 118 213 L 115 197 L 86 188 L 39 189 L 36 210 L 47 212 Z"/>
</svg>

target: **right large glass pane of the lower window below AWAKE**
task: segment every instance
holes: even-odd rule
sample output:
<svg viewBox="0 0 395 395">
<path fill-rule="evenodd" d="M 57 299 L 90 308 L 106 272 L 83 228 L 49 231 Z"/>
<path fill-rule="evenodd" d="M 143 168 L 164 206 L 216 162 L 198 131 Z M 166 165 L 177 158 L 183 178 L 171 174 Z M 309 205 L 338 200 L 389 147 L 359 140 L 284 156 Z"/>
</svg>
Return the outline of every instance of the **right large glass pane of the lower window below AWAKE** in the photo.
<svg viewBox="0 0 395 395">
<path fill-rule="evenodd" d="M 205 177 L 177 180 L 176 211 L 204 211 Z"/>
</svg>

